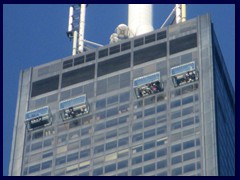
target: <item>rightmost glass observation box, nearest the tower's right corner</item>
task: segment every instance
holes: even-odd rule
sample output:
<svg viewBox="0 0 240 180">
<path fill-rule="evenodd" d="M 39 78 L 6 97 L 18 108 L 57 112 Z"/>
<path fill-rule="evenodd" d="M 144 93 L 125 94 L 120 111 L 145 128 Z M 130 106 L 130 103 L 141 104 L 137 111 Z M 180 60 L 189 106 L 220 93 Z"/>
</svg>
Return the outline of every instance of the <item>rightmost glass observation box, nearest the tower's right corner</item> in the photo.
<svg viewBox="0 0 240 180">
<path fill-rule="evenodd" d="M 171 68 L 171 77 L 174 87 L 197 81 L 199 74 L 195 69 L 195 62 Z"/>
</svg>

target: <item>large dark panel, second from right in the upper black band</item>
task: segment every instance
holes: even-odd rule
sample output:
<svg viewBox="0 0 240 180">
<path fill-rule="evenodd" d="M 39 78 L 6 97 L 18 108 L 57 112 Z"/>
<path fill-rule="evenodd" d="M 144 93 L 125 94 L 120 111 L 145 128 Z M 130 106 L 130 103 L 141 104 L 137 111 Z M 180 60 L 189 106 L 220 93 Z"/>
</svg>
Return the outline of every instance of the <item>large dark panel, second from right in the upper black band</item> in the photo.
<svg viewBox="0 0 240 180">
<path fill-rule="evenodd" d="M 142 64 L 166 56 L 166 43 L 157 44 L 134 52 L 134 65 Z"/>
</svg>

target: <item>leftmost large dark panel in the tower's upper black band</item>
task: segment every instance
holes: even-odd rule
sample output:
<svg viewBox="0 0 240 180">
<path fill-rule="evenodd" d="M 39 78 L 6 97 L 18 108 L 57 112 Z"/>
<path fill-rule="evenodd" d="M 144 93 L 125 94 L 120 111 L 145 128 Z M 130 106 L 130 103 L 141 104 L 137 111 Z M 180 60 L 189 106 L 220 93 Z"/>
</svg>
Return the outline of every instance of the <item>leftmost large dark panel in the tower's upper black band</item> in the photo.
<svg viewBox="0 0 240 180">
<path fill-rule="evenodd" d="M 57 90 L 58 83 L 59 75 L 33 82 L 31 97 Z"/>
</svg>

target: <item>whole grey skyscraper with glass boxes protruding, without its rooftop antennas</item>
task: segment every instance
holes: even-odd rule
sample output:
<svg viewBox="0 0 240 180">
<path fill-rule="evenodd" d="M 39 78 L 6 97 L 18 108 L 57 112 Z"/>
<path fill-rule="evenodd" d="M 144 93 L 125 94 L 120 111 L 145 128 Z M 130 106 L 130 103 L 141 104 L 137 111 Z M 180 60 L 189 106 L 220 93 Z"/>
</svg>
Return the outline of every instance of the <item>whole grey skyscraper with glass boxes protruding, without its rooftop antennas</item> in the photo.
<svg viewBox="0 0 240 180">
<path fill-rule="evenodd" d="M 199 16 L 22 71 L 9 175 L 234 175 L 234 106 Z"/>
</svg>

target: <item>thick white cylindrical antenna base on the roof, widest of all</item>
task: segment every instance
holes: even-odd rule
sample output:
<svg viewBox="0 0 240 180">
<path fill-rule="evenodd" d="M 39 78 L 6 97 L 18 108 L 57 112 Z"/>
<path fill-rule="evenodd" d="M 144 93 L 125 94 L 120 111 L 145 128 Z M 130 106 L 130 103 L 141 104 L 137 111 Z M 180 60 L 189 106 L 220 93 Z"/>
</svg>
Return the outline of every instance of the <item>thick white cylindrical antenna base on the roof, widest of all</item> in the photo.
<svg viewBox="0 0 240 180">
<path fill-rule="evenodd" d="M 152 4 L 128 4 L 130 37 L 153 31 Z"/>
</svg>

